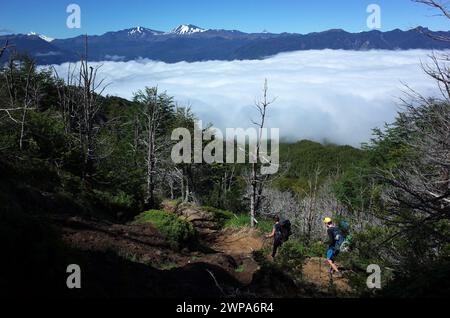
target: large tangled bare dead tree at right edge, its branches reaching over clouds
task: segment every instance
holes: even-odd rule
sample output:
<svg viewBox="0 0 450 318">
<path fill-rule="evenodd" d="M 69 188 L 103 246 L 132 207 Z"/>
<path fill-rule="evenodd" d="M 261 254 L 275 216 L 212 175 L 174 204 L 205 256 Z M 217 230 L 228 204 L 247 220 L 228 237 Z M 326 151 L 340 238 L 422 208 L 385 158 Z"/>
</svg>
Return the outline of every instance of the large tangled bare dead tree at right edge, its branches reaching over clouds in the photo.
<svg viewBox="0 0 450 318">
<path fill-rule="evenodd" d="M 431 61 L 423 69 L 437 83 L 441 97 L 427 98 L 407 86 L 398 141 L 415 157 L 380 173 L 389 185 L 383 195 L 389 211 L 384 220 L 400 224 L 400 233 L 420 228 L 448 242 L 436 224 L 450 219 L 450 68 L 447 56 L 433 54 Z"/>
</svg>

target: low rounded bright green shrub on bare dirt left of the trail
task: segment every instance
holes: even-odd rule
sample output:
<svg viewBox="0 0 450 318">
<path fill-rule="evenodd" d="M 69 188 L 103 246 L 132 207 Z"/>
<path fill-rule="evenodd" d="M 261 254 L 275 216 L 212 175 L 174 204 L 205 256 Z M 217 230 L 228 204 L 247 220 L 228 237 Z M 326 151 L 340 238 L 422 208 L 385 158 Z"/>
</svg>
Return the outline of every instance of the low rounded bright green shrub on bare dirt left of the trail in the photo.
<svg viewBox="0 0 450 318">
<path fill-rule="evenodd" d="M 190 222 L 178 218 L 175 214 L 150 210 L 135 218 L 134 224 L 151 223 L 175 246 L 186 246 L 195 243 L 197 232 Z"/>
</svg>

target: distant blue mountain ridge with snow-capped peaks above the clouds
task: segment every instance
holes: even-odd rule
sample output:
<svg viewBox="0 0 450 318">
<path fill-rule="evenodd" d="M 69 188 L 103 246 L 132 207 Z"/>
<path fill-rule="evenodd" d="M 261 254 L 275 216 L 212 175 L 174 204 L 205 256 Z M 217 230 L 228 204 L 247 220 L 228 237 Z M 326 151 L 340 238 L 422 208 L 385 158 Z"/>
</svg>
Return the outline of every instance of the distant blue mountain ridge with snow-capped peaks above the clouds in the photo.
<svg viewBox="0 0 450 318">
<path fill-rule="evenodd" d="M 431 36 L 430 36 L 431 35 Z M 238 30 L 209 30 L 183 24 L 171 32 L 142 26 L 88 36 L 89 60 L 130 61 L 151 59 L 166 63 L 181 61 L 263 59 L 278 53 L 300 50 L 410 50 L 450 49 L 450 43 L 434 37 L 450 38 L 449 31 L 432 32 L 418 27 L 381 32 L 350 33 L 341 29 L 309 34 L 245 33 Z M 52 39 L 37 33 L 0 36 L 19 53 L 28 54 L 38 64 L 74 62 L 84 52 L 85 37 Z M 1 62 L 8 59 L 5 54 Z"/>
</svg>

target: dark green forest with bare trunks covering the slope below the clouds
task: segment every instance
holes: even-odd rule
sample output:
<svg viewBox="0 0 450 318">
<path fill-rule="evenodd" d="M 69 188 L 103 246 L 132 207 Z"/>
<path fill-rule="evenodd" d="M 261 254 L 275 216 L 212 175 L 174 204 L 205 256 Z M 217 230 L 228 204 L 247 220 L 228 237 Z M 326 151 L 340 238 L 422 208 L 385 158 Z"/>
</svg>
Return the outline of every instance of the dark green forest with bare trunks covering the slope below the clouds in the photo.
<svg viewBox="0 0 450 318">
<path fill-rule="evenodd" d="M 195 114 L 157 88 L 143 88 L 133 100 L 102 96 L 96 73 L 82 61 L 78 77 L 67 82 L 24 57 L 1 69 L 1 282 L 10 296 L 130 296 L 145 289 L 129 281 L 143 275 L 136 256 L 64 240 L 61 227 L 74 218 L 151 223 L 173 243 L 168 249 L 183 253 L 202 250 L 199 233 L 169 215 L 170 207 L 202 207 L 222 227 L 250 225 L 250 165 L 172 163 L 171 131 L 193 131 Z M 323 257 L 322 219 L 332 216 L 347 220 L 354 236 L 340 260 L 351 295 L 448 295 L 449 105 L 448 97 L 412 99 L 360 149 L 282 144 L 280 172 L 258 183 L 256 217 L 265 230 L 274 214 L 289 218 L 294 238 L 275 263 L 262 261 L 264 271 L 295 277 L 292 262 Z M 90 266 L 84 293 L 65 288 L 72 263 Z M 369 264 L 385 273 L 381 290 L 365 286 Z M 115 267 L 115 287 L 102 285 L 103 266 Z M 125 294 L 118 291 L 123 286 Z"/>
</svg>

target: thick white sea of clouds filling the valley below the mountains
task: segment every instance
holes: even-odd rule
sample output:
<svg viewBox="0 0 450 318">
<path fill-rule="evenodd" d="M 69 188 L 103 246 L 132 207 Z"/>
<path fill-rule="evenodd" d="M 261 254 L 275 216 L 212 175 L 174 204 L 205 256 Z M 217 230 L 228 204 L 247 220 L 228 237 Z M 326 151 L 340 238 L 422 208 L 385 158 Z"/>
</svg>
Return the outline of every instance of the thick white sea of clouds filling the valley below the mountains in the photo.
<svg viewBox="0 0 450 318">
<path fill-rule="evenodd" d="M 268 125 L 290 140 L 327 140 L 359 146 L 372 129 L 392 122 L 401 109 L 404 84 L 431 96 L 436 83 L 421 68 L 432 52 L 301 51 L 257 61 L 166 64 L 150 60 L 103 62 L 105 93 L 132 98 L 145 86 L 158 86 L 191 106 L 203 122 L 247 128 L 258 118 L 255 101 L 267 78 L 276 97 Z M 68 65 L 56 66 L 64 74 Z"/>
</svg>

